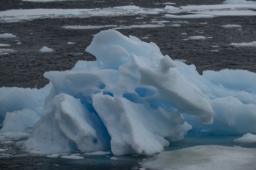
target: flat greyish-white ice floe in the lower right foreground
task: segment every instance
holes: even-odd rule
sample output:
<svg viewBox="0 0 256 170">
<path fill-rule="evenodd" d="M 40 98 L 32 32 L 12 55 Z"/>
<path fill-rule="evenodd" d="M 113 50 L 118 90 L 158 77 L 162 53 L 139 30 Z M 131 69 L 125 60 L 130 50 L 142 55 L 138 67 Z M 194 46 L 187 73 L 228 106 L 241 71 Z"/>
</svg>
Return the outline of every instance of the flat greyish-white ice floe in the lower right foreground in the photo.
<svg viewBox="0 0 256 170">
<path fill-rule="evenodd" d="M 201 145 L 162 152 L 157 159 L 146 161 L 141 166 L 150 170 L 241 170 L 256 167 L 255 160 L 256 148 Z"/>
</svg>

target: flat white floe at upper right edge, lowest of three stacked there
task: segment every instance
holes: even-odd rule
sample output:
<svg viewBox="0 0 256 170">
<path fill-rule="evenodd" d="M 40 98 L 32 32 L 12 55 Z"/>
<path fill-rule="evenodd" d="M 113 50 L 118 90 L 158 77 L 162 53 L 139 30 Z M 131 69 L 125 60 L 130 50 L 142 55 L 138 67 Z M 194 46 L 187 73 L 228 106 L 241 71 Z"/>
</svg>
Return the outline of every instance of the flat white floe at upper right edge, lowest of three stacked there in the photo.
<svg viewBox="0 0 256 170">
<path fill-rule="evenodd" d="M 256 8 L 256 4 L 255 4 Z M 196 14 L 206 14 L 213 16 L 255 16 L 256 12 L 251 10 L 230 10 L 230 11 L 197 11 L 197 12 L 189 12 Z"/>
</svg>

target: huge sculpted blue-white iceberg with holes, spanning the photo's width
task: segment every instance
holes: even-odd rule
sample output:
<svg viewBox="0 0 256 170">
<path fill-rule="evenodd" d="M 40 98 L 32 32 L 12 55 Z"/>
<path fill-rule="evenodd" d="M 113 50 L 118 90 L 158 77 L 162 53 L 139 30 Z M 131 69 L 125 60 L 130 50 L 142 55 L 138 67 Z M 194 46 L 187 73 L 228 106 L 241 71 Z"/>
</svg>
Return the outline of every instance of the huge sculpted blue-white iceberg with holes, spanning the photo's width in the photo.
<svg viewBox="0 0 256 170">
<path fill-rule="evenodd" d="M 24 142 L 28 152 L 114 155 L 162 152 L 170 141 L 184 138 L 191 125 L 256 133 L 253 72 L 199 75 L 194 65 L 162 55 L 155 43 L 116 30 L 99 32 L 86 51 L 97 60 L 45 72 L 50 84 L 40 90 L 0 88 L 5 117 L 0 133 L 21 132 L 31 126 L 26 121 L 39 119 Z"/>
</svg>

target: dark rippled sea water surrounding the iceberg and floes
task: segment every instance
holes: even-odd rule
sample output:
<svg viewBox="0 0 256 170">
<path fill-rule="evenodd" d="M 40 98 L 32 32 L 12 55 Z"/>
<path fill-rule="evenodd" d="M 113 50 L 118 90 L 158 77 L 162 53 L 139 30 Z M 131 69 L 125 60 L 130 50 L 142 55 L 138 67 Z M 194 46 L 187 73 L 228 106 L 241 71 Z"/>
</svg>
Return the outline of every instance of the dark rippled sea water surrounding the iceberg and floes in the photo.
<svg viewBox="0 0 256 170">
<path fill-rule="evenodd" d="M 21 0 L 1 0 L 0 11 L 9 9 L 75 9 L 75 8 L 108 8 L 124 5 L 136 5 L 141 8 L 164 8 L 162 3 L 182 5 L 222 4 L 223 0 L 104 0 L 104 1 L 58 1 L 48 3 L 33 3 Z M 255 10 L 254 10 L 255 11 Z M 182 13 L 188 14 L 188 13 Z M 163 26 L 161 28 L 118 29 L 122 34 L 142 38 L 145 42 L 154 42 L 162 54 L 174 59 L 186 60 L 186 64 L 194 64 L 202 74 L 204 70 L 245 69 L 256 72 L 256 47 L 234 47 L 231 43 L 253 42 L 256 40 L 255 16 L 220 16 L 214 18 L 163 18 L 163 14 L 95 16 L 72 18 L 38 18 L 19 22 L 1 22 L 0 34 L 11 33 L 17 38 L 0 39 L 0 43 L 9 44 L 13 53 L 0 55 L 0 87 L 44 87 L 49 81 L 43 77 L 46 71 L 70 70 L 78 60 L 93 61 L 96 58 L 85 51 L 99 29 L 65 29 L 68 25 L 118 25 L 130 26 L 153 24 L 153 20 L 166 20 L 171 24 L 181 26 Z M 186 22 L 184 22 L 186 21 Z M 207 24 L 200 24 L 207 22 Z M 225 29 L 222 25 L 241 25 L 241 29 Z M 187 33 L 183 35 L 181 33 Z M 205 40 L 184 40 L 189 36 L 212 37 Z M 148 37 L 148 38 L 143 38 Z M 16 44 L 21 42 L 21 44 Z M 75 44 L 67 44 L 75 42 Z M 51 53 L 41 53 L 39 49 L 47 46 L 54 49 Z M 218 46 L 218 47 L 213 47 Z M 212 51 L 214 50 L 214 51 Z M 218 51 L 216 51 L 218 50 Z M 1 127 L 0 127 L 1 128 Z M 184 140 L 172 142 L 166 150 L 181 149 L 196 145 L 238 145 L 233 142 L 239 135 L 217 135 L 208 130 L 192 129 Z M 22 138 L 10 139 L 14 142 Z M 82 160 L 47 158 L 21 151 L 13 143 L 0 144 L 0 148 L 8 148 L 9 158 L 0 155 L 0 169 L 106 169 L 131 170 L 139 167 L 143 159 L 154 156 L 84 156 Z M 81 156 L 83 153 L 81 153 Z M 110 157 L 109 157 L 110 156 Z"/>
</svg>

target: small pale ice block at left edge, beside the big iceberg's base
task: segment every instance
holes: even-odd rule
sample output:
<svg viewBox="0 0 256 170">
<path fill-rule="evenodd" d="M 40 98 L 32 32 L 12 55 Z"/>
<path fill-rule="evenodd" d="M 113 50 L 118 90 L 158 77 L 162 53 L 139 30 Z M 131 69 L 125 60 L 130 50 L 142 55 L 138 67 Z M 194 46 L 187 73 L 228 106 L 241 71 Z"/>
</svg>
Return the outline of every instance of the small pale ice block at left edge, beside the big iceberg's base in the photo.
<svg viewBox="0 0 256 170">
<path fill-rule="evenodd" d="M 39 119 L 38 113 L 30 109 L 7 112 L 3 123 L 4 126 L 0 129 L 0 133 L 32 129 Z"/>
</svg>

